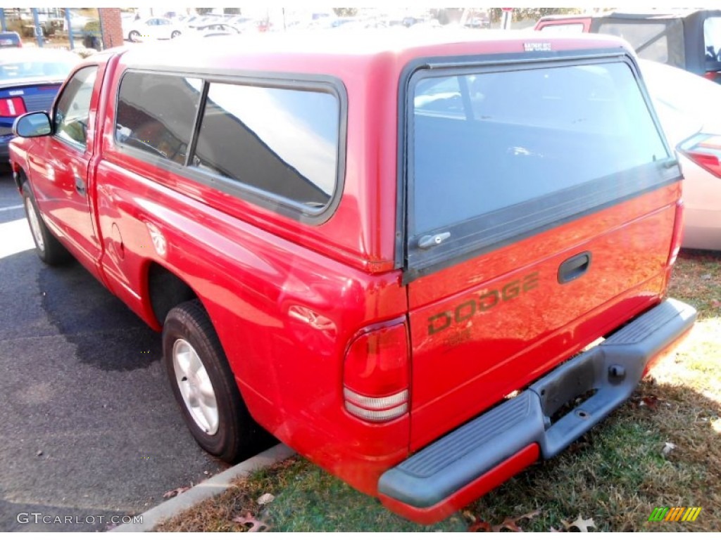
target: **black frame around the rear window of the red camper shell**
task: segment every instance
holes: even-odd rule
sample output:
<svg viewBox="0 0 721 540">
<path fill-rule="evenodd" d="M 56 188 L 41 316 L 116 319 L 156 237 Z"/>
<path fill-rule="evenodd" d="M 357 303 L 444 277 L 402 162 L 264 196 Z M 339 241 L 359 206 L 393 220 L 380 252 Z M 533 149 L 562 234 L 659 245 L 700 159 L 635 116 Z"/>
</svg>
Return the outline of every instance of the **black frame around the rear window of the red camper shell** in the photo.
<svg viewBox="0 0 721 540">
<path fill-rule="evenodd" d="M 543 42 L 547 40 L 547 37 L 539 36 L 538 38 L 529 37 L 529 42 Z M 629 194 L 626 197 L 620 199 L 614 199 L 606 202 L 605 204 L 597 204 L 593 207 L 588 208 L 583 212 L 577 212 L 573 215 L 565 217 L 561 220 L 542 225 L 537 228 L 530 230 L 523 230 L 520 233 L 510 236 L 508 238 L 500 238 L 493 243 L 482 243 L 482 242 L 469 242 L 466 246 L 454 246 L 453 242 L 448 242 L 444 246 L 438 246 L 431 248 L 428 251 L 420 252 L 417 247 L 410 246 L 410 219 L 412 219 L 412 170 L 413 162 L 413 148 L 412 148 L 412 84 L 414 83 L 413 78 L 419 71 L 434 71 L 436 69 L 443 70 L 444 74 L 449 76 L 459 75 L 464 73 L 484 73 L 489 71 L 515 71 L 518 69 L 532 69 L 539 67 L 561 67 L 561 66 L 575 66 L 583 61 L 585 65 L 591 63 L 609 63 L 622 61 L 627 63 L 631 69 L 634 78 L 639 82 L 642 96 L 647 104 L 650 112 L 650 116 L 655 124 L 656 131 L 659 133 L 661 140 L 663 141 L 664 148 L 670 156 L 665 161 L 660 161 L 657 164 L 651 164 L 658 166 L 663 176 L 663 181 L 659 181 L 648 189 L 641 189 Z M 658 189 L 662 186 L 673 184 L 674 182 L 681 179 L 681 170 L 678 166 L 678 161 L 673 153 L 673 148 L 668 145 L 665 135 L 663 135 L 663 129 L 660 127 L 658 116 L 655 113 L 653 104 L 651 103 L 650 95 L 643 84 L 640 76 L 640 70 L 632 58 L 625 49 L 613 48 L 606 50 L 572 50 L 572 51 L 559 51 L 559 52 L 543 52 L 543 53 L 507 53 L 507 54 L 492 54 L 492 55 L 473 55 L 473 56 L 459 56 L 455 58 L 420 58 L 412 61 L 404 67 L 398 85 L 398 148 L 397 148 L 397 189 L 399 196 L 397 197 L 397 214 L 396 214 L 396 246 L 395 246 L 395 268 L 402 269 L 402 283 L 409 284 L 423 276 L 432 274 L 435 271 L 446 269 L 455 264 L 459 264 L 463 261 L 467 261 L 471 258 L 477 257 L 483 253 L 489 253 L 495 251 L 503 246 L 508 246 L 511 243 L 516 243 L 524 238 L 530 238 L 531 236 L 537 235 L 544 230 L 550 230 L 565 222 L 577 220 L 585 215 L 591 215 L 599 212 L 606 207 L 614 206 L 627 199 L 638 197 L 645 192 L 650 192 Z M 454 230 L 456 228 L 464 229 L 469 227 L 469 223 L 477 220 L 478 217 L 473 217 L 470 220 L 466 220 L 461 223 L 457 223 L 449 228 Z M 411 251 L 415 251 L 420 256 L 415 258 L 410 255 Z M 414 258 L 413 261 L 411 259 Z"/>
</svg>

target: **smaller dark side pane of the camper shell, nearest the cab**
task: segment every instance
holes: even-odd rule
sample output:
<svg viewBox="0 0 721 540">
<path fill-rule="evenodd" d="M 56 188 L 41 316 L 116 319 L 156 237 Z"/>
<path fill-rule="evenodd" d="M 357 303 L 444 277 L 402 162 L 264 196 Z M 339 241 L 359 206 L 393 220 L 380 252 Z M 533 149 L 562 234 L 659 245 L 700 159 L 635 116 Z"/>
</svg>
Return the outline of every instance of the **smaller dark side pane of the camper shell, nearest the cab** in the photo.
<svg viewBox="0 0 721 540">
<path fill-rule="evenodd" d="M 120 82 L 115 140 L 185 164 L 201 88 L 200 79 L 180 75 L 125 73 Z"/>
</svg>

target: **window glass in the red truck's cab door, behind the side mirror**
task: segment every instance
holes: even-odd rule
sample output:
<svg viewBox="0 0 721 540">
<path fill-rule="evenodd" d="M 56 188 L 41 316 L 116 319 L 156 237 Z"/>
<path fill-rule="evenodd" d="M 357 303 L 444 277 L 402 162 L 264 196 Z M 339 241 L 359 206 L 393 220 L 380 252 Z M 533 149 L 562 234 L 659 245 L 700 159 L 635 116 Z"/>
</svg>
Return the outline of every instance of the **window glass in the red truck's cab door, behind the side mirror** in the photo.
<svg viewBox="0 0 721 540">
<path fill-rule="evenodd" d="M 63 89 L 53 116 L 55 135 L 83 148 L 87 144 L 90 98 L 96 75 L 97 66 L 88 66 L 75 73 Z"/>
</svg>

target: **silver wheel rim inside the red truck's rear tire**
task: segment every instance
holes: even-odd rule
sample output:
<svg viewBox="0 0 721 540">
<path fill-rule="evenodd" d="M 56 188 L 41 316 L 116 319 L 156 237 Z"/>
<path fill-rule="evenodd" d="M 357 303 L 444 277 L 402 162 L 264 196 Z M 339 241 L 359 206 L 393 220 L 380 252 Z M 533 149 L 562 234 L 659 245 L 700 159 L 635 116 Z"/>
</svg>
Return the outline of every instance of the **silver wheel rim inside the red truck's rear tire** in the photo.
<svg viewBox="0 0 721 540">
<path fill-rule="evenodd" d="M 215 435 L 218 432 L 216 392 L 200 356 L 184 339 L 177 339 L 173 344 L 173 369 L 180 395 L 193 420 L 205 433 Z"/>
</svg>

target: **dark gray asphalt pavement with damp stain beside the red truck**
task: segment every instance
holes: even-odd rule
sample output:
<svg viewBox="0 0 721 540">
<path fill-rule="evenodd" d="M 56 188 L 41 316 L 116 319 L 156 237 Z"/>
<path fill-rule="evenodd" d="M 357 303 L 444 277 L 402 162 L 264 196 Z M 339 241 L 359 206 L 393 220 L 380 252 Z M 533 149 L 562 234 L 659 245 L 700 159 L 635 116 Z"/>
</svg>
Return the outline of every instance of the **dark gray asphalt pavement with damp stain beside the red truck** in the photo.
<svg viewBox="0 0 721 540">
<path fill-rule="evenodd" d="M 0 531 L 105 531 L 226 469 L 185 428 L 150 330 L 49 268 L 0 172 Z"/>
</svg>

